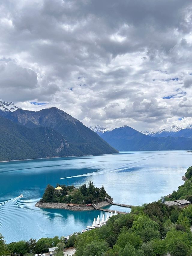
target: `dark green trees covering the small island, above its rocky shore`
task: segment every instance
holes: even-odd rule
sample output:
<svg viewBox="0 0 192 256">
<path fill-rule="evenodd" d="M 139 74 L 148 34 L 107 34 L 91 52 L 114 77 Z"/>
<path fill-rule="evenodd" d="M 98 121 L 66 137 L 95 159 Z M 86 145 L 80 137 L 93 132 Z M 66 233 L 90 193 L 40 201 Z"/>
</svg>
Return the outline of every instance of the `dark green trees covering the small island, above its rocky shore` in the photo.
<svg viewBox="0 0 192 256">
<path fill-rule="evenodd" d="M 59 193 L 55 193 L 54 187 L 48 184 L 41 200 L 52 203 L 87 204 L 103 202 L 105 197 L 111 199 L 104 186 L 96 188 L 91 181 L 89 181 L 88 186 L 83 184 L 80 188 L 75 188 L 73 185 L 68 187 L 57 184 L 57 186 L 61 187 L 61 192 Z"/>
</svg>

